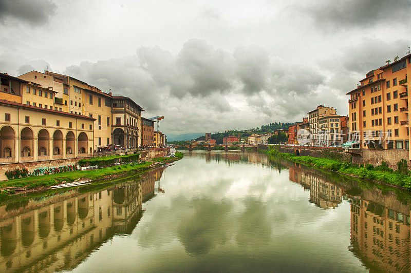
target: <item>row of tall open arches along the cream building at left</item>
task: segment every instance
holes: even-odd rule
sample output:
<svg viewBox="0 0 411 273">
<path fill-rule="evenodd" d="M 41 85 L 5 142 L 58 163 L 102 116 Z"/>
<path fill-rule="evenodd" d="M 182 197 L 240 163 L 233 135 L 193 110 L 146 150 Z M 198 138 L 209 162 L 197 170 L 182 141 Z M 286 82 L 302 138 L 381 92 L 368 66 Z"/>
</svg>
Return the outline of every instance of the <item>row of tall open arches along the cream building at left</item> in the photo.
<svg viewBox="0 0 411 273">
<path fill-rule="evenodd" d="M 62 155 L 63 149 L 66 149 L 66 154 L 74 154 L 76 148 L 76 136 L 72 131 L 68 131 L 64 136 L 62 131 L 57 129 L 52 135 L 52 150 L 50 151 L 50 133 L 47 129 L 41 129 L 37 135 L 37 147 L 34 147 L 34 133 L 29 127 L 22 129 L 20 133 L 20 157 L 30 158 L 34 155 L 34 149 L 37 149 L 39 157 L 49 157 L 53 155 Z M 64 146 L 66 140 L 66 147 Z M 0 129 L 0 158 L 14 159 L 16 135 L 14 129 L 10 126 L 3 126 Z M 85 132 L 81 132 L 77 137 L 78 153 L 87 153 L 88 151 L 88 136 Z M 90 147 L 91 149 L 91 147 Z"/>
</svg>

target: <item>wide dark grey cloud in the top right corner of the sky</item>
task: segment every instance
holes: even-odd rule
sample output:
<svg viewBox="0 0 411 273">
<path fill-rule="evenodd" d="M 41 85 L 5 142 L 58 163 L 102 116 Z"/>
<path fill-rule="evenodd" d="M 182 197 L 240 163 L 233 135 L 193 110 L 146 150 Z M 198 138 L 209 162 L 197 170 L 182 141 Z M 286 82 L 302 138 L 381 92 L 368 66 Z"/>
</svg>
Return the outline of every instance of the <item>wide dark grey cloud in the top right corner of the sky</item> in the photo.
<svg viewBox="0 0 411 273">
<path fill-rule="evenodd" d="M 409 22 L 409 0 L 342 0 L 314 1 L 297 10 L 311 15 L 322 28 L 372 27 L 377 24 L 406 24 Z"/>
</svg>

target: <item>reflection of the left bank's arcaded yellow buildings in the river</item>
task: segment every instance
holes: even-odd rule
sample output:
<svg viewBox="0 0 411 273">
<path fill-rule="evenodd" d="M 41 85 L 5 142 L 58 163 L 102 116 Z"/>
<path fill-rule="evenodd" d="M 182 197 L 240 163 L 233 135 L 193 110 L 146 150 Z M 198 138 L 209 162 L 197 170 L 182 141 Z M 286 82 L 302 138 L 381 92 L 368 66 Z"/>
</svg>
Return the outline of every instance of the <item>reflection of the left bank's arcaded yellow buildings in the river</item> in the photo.
<svg viewBox="0 0 411 273">
<path fill-rule="evenodd" d="M 73 189 L 1 206 L 0 271 L 76 267 L 108 239 L 133 231 L 162 172 L 151 170 L 141 180 L 97 191 Z"/>
</svg>

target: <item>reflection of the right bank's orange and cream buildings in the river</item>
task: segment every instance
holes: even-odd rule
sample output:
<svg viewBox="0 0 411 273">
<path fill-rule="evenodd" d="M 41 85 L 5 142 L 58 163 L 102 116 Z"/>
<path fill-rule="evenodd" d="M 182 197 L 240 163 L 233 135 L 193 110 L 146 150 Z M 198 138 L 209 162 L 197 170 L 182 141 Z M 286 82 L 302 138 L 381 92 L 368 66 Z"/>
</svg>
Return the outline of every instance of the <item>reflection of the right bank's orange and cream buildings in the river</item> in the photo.
<svg viewBox="0 0 411 273">
<path fill-rule="evenodd" d="M 368 269 L 411 270 L 409 193 L 400 192 L 404 194 L 400 198 L 394 191 L 361 188 L 356 181 L 341 183 L 339 179 L 327 179 L 324 172 L 288 164 L 289 179 L 310 190 L 310 201 L 320 208 L 335 208 L 343 199 L 350 202 L 350 250 Z"/>
</svg>

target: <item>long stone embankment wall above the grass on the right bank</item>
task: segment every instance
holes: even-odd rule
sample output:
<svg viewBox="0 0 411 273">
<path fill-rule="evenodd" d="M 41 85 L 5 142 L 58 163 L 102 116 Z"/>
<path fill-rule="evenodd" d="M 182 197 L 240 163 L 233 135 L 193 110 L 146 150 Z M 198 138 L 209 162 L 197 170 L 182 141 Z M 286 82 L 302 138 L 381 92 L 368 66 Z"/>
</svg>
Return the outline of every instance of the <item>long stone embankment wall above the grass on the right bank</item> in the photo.
<svg viewBox="0 0 411 273">
<path fill-rule="evenodd" d="M 379 166 L 384 161 L 389 168 L 396 170 L 397 163 L 401 159 L 407 161 L 408 168 L 411 168 L 408 150 L 372 150 L 361 149 L 352 152 L 352 149 L 344 149 L 341 147 L 315 147 L 315 146 L 289 146 L 276 145 L 279 152 L 290 153 L 294 155 L 302 155 L 314 158 L 327 158 L 339 161 L 345 161 L 355 164 L 371 164 Z M 269 150 L 270 145 L 259 145 L 260 150 Z"/>
</svg>

